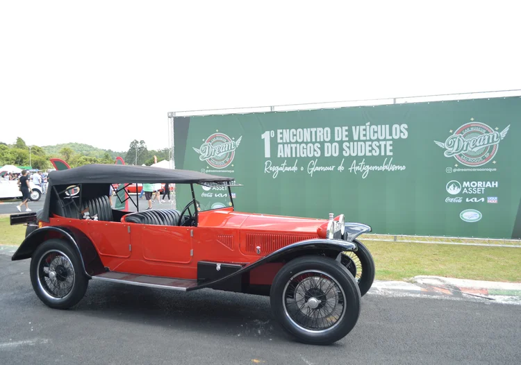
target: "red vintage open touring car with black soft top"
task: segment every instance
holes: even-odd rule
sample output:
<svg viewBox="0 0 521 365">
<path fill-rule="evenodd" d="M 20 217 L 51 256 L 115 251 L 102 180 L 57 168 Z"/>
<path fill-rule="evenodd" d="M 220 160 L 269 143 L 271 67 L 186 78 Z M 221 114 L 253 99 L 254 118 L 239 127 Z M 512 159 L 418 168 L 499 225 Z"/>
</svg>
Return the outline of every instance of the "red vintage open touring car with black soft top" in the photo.
<svg viewBox="0 0 521 365">
<path fill-rule="evenodd" d="M 185 184 L 188 203 L 181 211 L 140 211 L 139 199 L 127 196 L 138 212 L 113 210 L 110 184 L 128 189 L 130 181 L 181 184 L 177 201 Z M 53 171 L 43 210 L 10 217 L 11 224 L 28 224 L 12 260 L 31 259 L 33 289 L 53 308 L 76 305 L 89 280 L 213 288 L 270 296 L 274 317 L 304 343 L 345 337 L 374 279 L 372 257 L 356 239 L 371 228 L 345 223 L 342 214 L 309 219 L 235 212 L 233 185 L 231 178 L 130 165 Z M 201 198 L 211 189 L 224 202 Z"/>
</svg>

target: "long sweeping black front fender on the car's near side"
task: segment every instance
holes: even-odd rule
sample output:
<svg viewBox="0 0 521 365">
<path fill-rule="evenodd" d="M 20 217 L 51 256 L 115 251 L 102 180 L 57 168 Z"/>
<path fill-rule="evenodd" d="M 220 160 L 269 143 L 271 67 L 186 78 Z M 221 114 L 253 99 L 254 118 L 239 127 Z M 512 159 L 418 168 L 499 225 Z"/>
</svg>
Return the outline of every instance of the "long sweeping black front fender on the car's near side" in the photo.
<svg viewBox="0 0 521 365">
<path fill-rule="evenodd" d="M 332 257 L 337 259 L 340 253 L 344 251 L 356 251 L 356 244 L 353 242 L 343 241 L 341 239 L 306 239 L 305 241 L 299 241 L 295 244 L 290 244 L 288 246 L 284 246 L 277 251 L 270 253 L 270 255 L 266 255 L 261 258 L 261 260 L 257 260 L 249 265 L 243 266 L 238 271 L 235 271 L 229 275 L 226 275 L 217 280 L 212 280 L 210 282 L 203 282 L 197 287 L 188 288 L 187 291 L 204 289 L 206 287 L 213 287 L 226 282 L 227 280 L 234 278 L 237 275 L 242 275 L 247 273 L 258 266 L 263 264 L 267 264 L 269 262 L 277 262 L 279 260 L 291 260 L 295 257 L 299 257 L 302 255 L 316 255 L 316 254 L 325 254 L 328 257 Z"/>
</svg>

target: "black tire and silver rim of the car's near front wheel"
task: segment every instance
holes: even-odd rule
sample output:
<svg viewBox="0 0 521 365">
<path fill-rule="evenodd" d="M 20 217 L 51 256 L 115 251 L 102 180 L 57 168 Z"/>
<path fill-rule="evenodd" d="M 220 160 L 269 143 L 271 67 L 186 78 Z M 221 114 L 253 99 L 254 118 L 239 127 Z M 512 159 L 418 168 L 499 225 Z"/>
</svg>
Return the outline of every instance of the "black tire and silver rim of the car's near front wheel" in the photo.
<svg viewBox="0 0 521 365">
<path fill-rule="evenodd" d="M 315 276 L 313 276 L 314 273 Z M 324 273 L 326 275 L 323 275 Z M 306 277 L 306 275 L 311 276 Z M 293 298 L 288 297 L 290 303 L 286 304 L 286 296 L 290 296 L 288 293 L 292 288 L 290 284 L 292 284 L 293 280 L 298 280 L 299 277 L 303 277 L 304 280 L 301 280 L 300 284 L 293 288 Z M 331 292 L 331 289 L 336 289 L 333 291 L 334 294 L 332 295 L 337 298 L 337 303 L 333 309 L 336 309 L 336 305 L 340 305 L 340 298 L 342 299 L 343 305 L 341 314 L 339 315 L 339 318 L 336 320 L 336 322 L 330 325 L 328 328 L 313 329 L 310 327 L 305 327 L 302 323 L 297 323 L 299 322 L 297 316 L 301 316 L 301 318 L 304 319 L 311 318 L 311 316 L 308 316 L 308 313 L 304 314 L 304 312 L 302 312 L 303 310 L 306 310 L 303 309 L 305 306 L 299 307 L 299 303 L 297 301 L 297 288 L 301 287 L 305 290 L 305 281 L 309 278 L 313 278 L 312 280 L 315 280 L 314 282 L 316 282 L 316 278 L 320 278 L 319 280 L 322 280 L 322 278 L 329 278 L 329 282 L 333 283 L 332 288 L 328 287 L 328 289 L 330 289 L 329 291 L 326 291 L 326 293 L 321 291 L 322 294 L 317 296 L 317 298 L 326 298 L 326 300 L 318 300 L 320 304 L 316 304 L 315 301 L 315 307 L 311 309 L 310 314 L 313 315 L 313 311 L 315 311 L 315 309 L 320 313 L 320 310 L 322 309 L 317 307 L 317 305 L 322 305 L 322 308 L 325 307 L 325 305 L 322 303 L 329 302 L 327 294 Z M 336 283 L 336 286 L 334 283 Z M 324 284 L 327 285 L 326 283 Z M 313 289 L 321 290 L 323 289 L 324 284 L 321 284 L 320 288 L 310 287 L 309 291 Z M 316 294 L 313 296 L 315 295 Z M 304 297 L 301 296 L 301 298 Z M 310 297 L 306 302 L 308 308 L 311 308 L 310 303 L 312 299 L 313 298 Z M 292 300 L 295 300 L 295 303 L 291 303 Z M 298 341 L 314 345 L 329 345 L 330 343 L 336 342 L 345 337 L 345 335 L 348 334 L 356 325 L 356 321 L 358 321 L 358 316 L 360 315 L 361 296 L 360 290 L 358 289 L 358 285 L 356 285 L 353 275 L 351 275 L 351 273 L 349 273 L 349 271 L 347 271 L 347 269 L 342 266 L 340 262 L 323 256 L 304 256 L 288 262 L 288 264 L 284 265 L 282 269 L 280 269 L 276 274 L 270 291 L 270 303 L 272 312 L 277 321 L 281 323 L 284 330 L 294 336 Z M 290 314 L 292 310 L 288 308 L 291 306 L 293 308 L 299 307 L 297 309 L 299 309 L 301 312 L 294 310 L 293 314 Z M 309 309 L 307 310 L 309 311 Z M 331 313 L 333 312 L 329 312 L 329 314 L 324 313 L 324 316 L 322 319 L 320 319 L 320 321 L 324 321 L 326 316 L 327 321 L 329 318 L 331 318 Z M 320 321 L 317 319 L 317 323 L 320 323 Z M 311 323 L 313 323 L 313 321 Z"/>
</svg>

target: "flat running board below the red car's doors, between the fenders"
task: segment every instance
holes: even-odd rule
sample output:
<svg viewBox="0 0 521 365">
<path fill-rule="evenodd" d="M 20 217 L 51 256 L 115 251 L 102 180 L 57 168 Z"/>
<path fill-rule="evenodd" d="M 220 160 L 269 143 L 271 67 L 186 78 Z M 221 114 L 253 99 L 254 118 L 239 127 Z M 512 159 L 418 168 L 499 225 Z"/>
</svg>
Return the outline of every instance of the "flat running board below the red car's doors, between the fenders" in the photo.
<svg viewBox="0 0 521 365">
<path fill-rule="evenodd" d="M 192 287 L 197 287 L 197 280 L 163 278 L 160 276 L 135 275 L 131 273 L 118 273 L 109 271 L 92 276 L 94 280 L 104 280 L 110 282 L 119 282 L 121 284 L 138 285 L 140 287 L 154 287 L 161 289 L 172 289 L 178 291 L 186 291 Z"/>
</svg>

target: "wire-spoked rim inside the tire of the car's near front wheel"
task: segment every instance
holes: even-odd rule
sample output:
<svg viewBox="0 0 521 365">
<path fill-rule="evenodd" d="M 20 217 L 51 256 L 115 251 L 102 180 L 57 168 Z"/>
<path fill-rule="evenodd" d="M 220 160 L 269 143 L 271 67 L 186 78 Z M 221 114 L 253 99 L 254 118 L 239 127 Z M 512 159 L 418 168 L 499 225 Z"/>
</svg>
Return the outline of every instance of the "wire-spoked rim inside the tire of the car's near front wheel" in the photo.
<svg viewBox="0 0 521 365">
<path fill-rule="evenodd" d="M 286 316 L 299 328 L 325 332 L 345 315 L 345 293 L 338 282 L 323 271 L 301 271 L 283 290 Z"/>
</svg>

